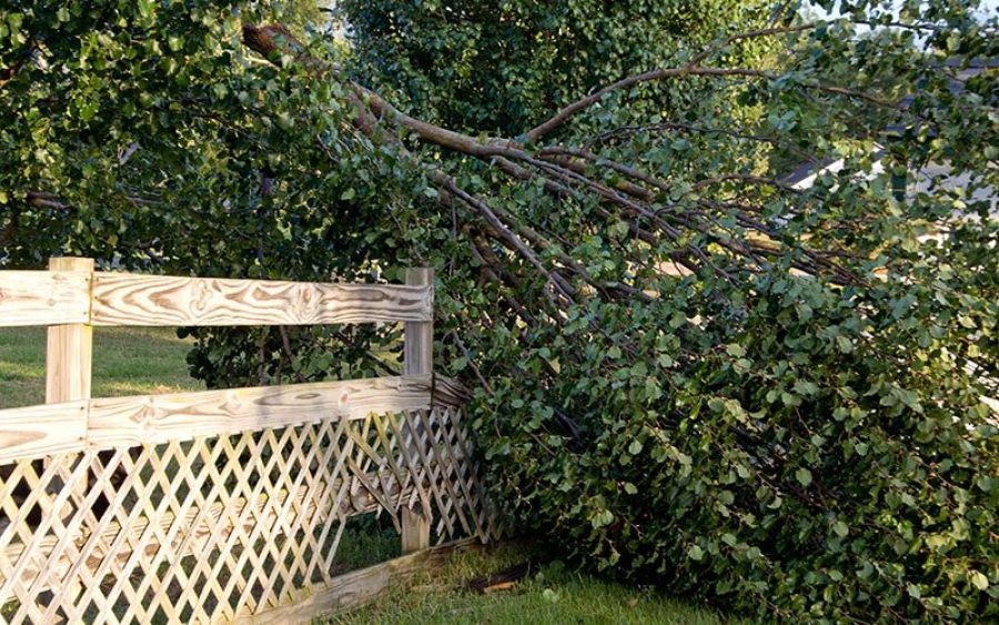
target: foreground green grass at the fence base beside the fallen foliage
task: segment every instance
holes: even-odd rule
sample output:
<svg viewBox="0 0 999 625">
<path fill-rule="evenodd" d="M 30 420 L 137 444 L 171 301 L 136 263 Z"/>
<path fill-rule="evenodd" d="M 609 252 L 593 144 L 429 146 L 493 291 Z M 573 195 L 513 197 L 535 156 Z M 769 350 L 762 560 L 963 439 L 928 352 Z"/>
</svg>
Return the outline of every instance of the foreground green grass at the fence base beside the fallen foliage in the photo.
<svg viewBox="0 0 999 625">
<path fill-rule="evenodd" d="M 392 588 L 374 603 L 322 618 L 326 625 L 361 624 L 649 624 L 731 623 L 714 611 L 679 603 L 648 588 L 635 588 L 579 573 L 559 562 L 542 566 L 512 589 L 482 595 L 471 579 L 525 560 L 523 545 L 462 554 L 433 576 Z"/>
</svg>

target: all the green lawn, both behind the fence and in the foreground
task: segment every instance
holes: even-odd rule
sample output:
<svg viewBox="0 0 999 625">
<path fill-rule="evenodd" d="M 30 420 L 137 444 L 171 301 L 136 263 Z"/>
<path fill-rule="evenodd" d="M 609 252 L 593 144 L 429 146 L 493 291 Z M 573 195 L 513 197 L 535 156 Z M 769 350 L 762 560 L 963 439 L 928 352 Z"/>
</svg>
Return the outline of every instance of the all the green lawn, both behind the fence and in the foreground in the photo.
<svg viewBox="0 0 999 625">
<path fill-rule="evenodd" d="M 193 391 L 188 374 L 190 342 L 171 329 L 95 329 L 93 395 Z M 44 403 L 44 329 L 0 329 L 0 409 Z M 398 555 L 398 536 L 373 518 L 352 518 L 341 542 L 339 572 Z M 375 603 L 317 623 L 683 623 L 718 624 L 708 609 L 677 603 L 648 589 L 622 586 L 555 562 L 513 588 L 487 595 L 467 589 L 470 579 L 524 562 L 523 545 L 462 554 L 433 577 L 393 588 Z"/>
</svg>

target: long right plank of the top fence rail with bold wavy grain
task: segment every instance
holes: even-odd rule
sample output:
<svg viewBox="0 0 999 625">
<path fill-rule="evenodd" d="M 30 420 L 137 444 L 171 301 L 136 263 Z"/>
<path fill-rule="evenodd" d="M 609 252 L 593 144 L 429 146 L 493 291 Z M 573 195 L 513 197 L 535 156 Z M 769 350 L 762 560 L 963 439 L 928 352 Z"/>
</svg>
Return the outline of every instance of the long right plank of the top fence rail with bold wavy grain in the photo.
<svg viewBox="0 0 999 625">
<path fill-rule="evenodd" d="M 310 325 L 426 321 L 430 286 L 98 273 L 94 325 Z"/>
</svg>

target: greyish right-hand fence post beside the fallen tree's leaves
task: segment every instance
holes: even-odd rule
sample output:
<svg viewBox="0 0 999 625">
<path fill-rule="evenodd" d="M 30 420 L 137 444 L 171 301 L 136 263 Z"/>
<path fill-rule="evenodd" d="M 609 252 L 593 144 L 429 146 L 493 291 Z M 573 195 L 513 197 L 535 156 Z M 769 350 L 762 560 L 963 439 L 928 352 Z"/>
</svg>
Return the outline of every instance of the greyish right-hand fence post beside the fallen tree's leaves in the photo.
<svg viewBox="0 0 999 625">
<path fill-rule="evenodd" d="M 406 284 L 413 286 L 422 286 L 425 284 L 433 285 L 433 269 L 415 269 L 406 270 Z M 433 305 L 431 306 L 433 310 Z M 418 375 L 434 372 L 434 322 L 406 322 L 405 344 L 403 351 L 403 373 L 405 375 Z M 417 424 L 417 429 L 420 425 Z M 427 433 L 428 434 L 428 433 Z M 421 444 L 418 432 L 413 432 L 415 444 Z M 426 502 L 421 502 L 426 505 Z M 430 547 L 430 525 L 431 520 L 427 511 L 410 510 L 404 507 L 402 511 L 402 551 L 410 553 Z"/>
</svg>

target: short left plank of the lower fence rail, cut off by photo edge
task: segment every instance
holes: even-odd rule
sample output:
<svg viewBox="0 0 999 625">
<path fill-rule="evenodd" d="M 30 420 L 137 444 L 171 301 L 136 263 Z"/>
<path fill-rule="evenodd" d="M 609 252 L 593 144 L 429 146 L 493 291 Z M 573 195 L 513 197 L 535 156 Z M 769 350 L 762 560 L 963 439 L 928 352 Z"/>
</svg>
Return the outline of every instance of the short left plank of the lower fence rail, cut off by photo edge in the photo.
<svg viewBox="0 0 999 625">
<path fill-rule="evenodd" d="M 87 401 L 0 410 L 0 464 L 79 452 L 87 436 Z"/>
</svg>

